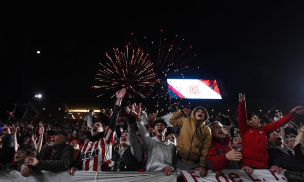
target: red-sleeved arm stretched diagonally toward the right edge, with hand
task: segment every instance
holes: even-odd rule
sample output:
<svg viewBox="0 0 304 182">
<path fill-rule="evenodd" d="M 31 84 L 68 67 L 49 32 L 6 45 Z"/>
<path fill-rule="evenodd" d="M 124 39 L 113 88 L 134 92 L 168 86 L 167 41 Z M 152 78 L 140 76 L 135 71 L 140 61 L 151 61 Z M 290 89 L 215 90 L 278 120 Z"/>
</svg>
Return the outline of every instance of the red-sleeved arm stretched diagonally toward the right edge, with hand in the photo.
<svg viewBox="0 0 304 182">
<path fill-rule="evenodd" d="M 288 121 L 292 120 L 295 118 L 298 114 L 303 112 L 303 106 L 296 106 L 293 108 L 288 115 L 284 116 L 283 118 L 279 119 L 278 121 L 269 123 L 265 125 L 265 131 L 266 135 L 269 135 L 272 133 L 274 130 L 278 129 L 281 127 L 283 124 L 286 124 Z"/>
</svg>

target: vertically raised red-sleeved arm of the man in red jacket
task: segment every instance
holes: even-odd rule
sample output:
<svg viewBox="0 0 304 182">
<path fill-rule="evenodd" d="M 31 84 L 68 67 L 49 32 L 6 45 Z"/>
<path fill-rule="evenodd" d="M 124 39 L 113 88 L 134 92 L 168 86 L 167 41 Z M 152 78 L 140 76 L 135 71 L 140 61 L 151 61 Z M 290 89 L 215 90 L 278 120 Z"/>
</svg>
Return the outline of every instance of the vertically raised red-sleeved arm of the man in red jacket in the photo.
<svg viewBox="0 0 304 182">
<path fill-rule="evenodd" d="M 238 121 L 240 133 L 243 134 L 250 127 L 247 124 L 247 111 L 246 111 L 246 101 L 245 94 L 239 93 L 239 109 L 238 109 Z"/>
</svg>

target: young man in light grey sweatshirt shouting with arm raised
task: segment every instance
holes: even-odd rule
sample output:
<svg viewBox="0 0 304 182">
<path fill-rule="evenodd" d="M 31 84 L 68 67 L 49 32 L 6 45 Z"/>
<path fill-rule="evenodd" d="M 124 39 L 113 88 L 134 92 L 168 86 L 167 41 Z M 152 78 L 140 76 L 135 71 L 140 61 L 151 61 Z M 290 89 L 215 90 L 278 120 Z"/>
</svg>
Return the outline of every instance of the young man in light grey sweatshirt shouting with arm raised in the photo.
<svg viewBox="0 0 304 182">
<path fill-rule="evenodd" d="M 137 107 L 134 103 L 132 105 L 132 112 L 136 117 L 136 124 L 145 145 L 146 170 L 163 170 L 165 175 L 169 176 L 176 164 L 176 146 L 165 137 L 167 123 L 163 120 L 156 120 L 152 125 L 155 137 L 151 138 L 144 127 L 144 122 L 141 121 L 141 105 L 140 103 Z M 136 132 L 134 131 L 132 142 L 136 140 L 135 136 Z M 139 151 L 140 148 L 135 150 Z"/>
</svg>

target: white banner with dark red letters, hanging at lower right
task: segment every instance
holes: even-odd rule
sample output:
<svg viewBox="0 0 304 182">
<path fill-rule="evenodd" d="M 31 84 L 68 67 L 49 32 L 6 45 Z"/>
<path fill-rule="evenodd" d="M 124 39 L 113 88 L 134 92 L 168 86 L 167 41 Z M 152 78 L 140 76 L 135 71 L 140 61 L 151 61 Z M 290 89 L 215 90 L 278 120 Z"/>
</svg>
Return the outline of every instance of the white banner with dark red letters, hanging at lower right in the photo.
<svg viewBox="0 0 304 182">
<path fill-rule="evenodd" d="M 284 171 L 278 174 L 273 169 L 254 169 L 252 174 L 243 170 L 208 170 L 204 178 L 199 177 L 199 171 L 182 170 L 181 173 L 186 182 L 287 182 Z"/>
</svg>

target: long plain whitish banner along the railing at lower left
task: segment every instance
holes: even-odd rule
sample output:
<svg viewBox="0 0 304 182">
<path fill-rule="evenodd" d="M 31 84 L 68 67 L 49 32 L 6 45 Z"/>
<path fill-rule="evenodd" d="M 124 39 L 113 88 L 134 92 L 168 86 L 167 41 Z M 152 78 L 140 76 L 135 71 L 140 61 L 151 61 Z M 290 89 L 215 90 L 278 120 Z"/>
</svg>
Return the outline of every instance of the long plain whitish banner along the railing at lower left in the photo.
<svg viewBox="0 0 304 182">
<path fill-rule="evenodd" d="M 70 176 L 66 171 L 34 172 L 23 177 L 18 171 L 0 171 L 0 182 L 176 182 L 177 174 L 165 176 L 164 172 L 95 172 L 76 171 Z"/>
</svg>

